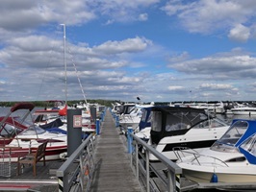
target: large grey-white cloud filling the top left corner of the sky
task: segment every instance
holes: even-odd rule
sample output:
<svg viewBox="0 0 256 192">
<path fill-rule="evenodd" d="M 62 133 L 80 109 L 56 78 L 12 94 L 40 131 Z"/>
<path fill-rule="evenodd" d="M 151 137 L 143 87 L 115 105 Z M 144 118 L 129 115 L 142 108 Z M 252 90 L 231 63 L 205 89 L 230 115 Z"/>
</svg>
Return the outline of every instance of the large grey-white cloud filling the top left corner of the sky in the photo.
<svg viewBox="0 0 256 192">
<path fill-rule="evenodd" d="M 78 25 L 96 17 L 87 1 L 3 1 L 0 26 L 8 31 L 33 29 L 53 22 Z"/>
</svg>

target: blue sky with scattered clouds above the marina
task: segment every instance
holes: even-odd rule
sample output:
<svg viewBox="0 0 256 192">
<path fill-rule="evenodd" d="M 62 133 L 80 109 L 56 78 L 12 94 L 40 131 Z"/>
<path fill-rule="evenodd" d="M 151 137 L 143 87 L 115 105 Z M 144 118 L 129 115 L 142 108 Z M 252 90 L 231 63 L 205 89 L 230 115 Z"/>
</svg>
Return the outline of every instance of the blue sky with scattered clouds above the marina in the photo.
<svg viewBox="0 0 256 192">
<path fill-rule="evenodd" d="M 255 0 L 0 4 L 0 102 L 256 100 Z"/>
</svg>

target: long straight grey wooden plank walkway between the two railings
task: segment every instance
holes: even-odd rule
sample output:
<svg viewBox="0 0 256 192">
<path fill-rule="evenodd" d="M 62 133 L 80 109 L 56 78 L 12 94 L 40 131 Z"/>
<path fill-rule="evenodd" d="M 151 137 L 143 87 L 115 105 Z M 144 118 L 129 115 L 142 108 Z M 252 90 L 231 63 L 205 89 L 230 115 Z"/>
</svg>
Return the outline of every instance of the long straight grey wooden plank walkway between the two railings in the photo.
<svg viewBox="0 0 256 192">
<path fill-rule="evenodd" d="M 130 166 L 124 135 L 106 110 L 101 132 L 95 144 L 95 170 L 90 192 L 141 192 Z"/>
</svg>

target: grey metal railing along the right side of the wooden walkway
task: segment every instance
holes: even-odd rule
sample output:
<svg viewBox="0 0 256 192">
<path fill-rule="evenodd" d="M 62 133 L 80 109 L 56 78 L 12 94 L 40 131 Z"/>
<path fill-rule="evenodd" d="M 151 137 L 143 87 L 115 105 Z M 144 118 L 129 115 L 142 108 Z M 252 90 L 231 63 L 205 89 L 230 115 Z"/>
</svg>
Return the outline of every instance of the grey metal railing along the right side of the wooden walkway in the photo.
<svg viewBox="0 0 256 192">
<path fill-rule="evenodd" d="M 132 128 L 128 129 L 127 138 L 131 167 L 146 192 L 181 191 L 182 168 L 141 140 Z M 158 161 L 150 161 L 149 154 Z"/>
</svg>

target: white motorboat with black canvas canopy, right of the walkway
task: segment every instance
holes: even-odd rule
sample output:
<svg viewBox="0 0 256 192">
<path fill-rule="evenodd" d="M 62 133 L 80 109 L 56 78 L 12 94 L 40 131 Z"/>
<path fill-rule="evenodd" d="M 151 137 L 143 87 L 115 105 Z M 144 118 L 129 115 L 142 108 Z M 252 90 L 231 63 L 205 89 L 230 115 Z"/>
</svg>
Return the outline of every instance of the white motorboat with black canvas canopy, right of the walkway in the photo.
<svg viewBox="0 0 256 192">
<path fill-rule="evenodd" d="M 200 152 L 220 138 L 228 125 L 202 108 L 154 107 L 149 145 L 168 159 L 177 160 L 177 147 Z M 149 155 L 151 161 L 156 156 Z"/>
</svg>

